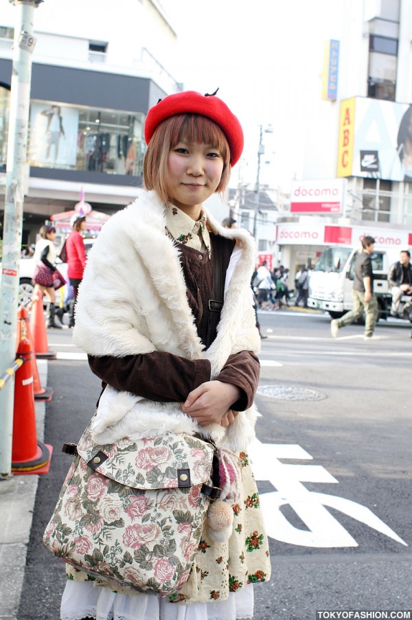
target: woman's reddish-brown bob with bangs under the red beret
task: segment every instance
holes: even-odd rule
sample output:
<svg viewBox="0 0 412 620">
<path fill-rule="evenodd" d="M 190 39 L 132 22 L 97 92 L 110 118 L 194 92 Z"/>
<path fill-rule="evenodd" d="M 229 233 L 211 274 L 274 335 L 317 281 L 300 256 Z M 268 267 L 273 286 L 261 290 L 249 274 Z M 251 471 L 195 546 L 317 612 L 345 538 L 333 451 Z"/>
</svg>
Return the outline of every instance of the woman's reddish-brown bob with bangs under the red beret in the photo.
<svg viewBox="0 0 412 620">
<path fill-rule="evenodd" d="M 143 181 L 146 190 L 155 190 L 168 204 L 172 201 L 168 188 L 168 156 L 180 141 L 203 142 L 218 149 L 223 158 L 223 170 L 216 193 L 223 192 L 230 177 L 230 148 L 225 134 L 211 119 L 200 114 L 176 114 L 157 126 L 148 144 L 143 161 Z"/>
</svg>

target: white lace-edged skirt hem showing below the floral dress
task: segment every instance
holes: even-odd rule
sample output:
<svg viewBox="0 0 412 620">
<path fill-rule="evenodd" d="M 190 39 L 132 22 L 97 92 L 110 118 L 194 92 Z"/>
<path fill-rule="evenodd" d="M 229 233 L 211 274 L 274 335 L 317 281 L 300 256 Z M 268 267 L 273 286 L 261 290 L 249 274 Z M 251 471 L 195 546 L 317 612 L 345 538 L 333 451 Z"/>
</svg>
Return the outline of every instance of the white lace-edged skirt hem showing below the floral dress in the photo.
<svg viewBox="0 0 412 620">
<path fill-rule="evenodd" d="M 253 586 L 229 593 L 226 601 L 170 603 L 157 596 L 125 595 L 93 582 L 69 580 L 62 596 L 61 620 L 249 620 L 253 618 Z"/>
</svg>

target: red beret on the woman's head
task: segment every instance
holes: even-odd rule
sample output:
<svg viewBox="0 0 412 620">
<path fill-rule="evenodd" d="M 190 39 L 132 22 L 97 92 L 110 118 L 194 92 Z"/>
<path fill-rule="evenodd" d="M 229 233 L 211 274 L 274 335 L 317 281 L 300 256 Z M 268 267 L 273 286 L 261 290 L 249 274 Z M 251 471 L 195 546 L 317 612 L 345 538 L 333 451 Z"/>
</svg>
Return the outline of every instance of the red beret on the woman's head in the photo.
<svg viewBox="0 0 412 620">
<path fill-rule="evenodd" d="M 214 121 L 229 142 L 231 165 L 239 161 L 243 150 L 243 131 L 238 118 L 216 95 L 201 95 L 195 91 L 168 95 L 150 108 L 144 124 L 146 144 L 162 121 L 175 114 L 185 113 L 201 114 Z"/>
</svg>

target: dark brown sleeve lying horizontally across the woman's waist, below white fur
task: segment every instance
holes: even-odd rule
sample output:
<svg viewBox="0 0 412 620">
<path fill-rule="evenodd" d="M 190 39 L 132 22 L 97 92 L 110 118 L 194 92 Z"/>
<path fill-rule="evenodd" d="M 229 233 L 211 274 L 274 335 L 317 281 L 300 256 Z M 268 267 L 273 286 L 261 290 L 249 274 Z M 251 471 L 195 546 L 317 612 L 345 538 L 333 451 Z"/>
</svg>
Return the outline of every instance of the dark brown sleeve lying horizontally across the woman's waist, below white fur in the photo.
<svg viewBox="0 0 412 620">
<path fill-rule="evenodd" d="M 122 358 L 89 355 L 89 366 L 104 384 L 157 402 L 185 402 L 192 390 L 210 380 L 209 360 L 161 351 Z"/>
</svg>

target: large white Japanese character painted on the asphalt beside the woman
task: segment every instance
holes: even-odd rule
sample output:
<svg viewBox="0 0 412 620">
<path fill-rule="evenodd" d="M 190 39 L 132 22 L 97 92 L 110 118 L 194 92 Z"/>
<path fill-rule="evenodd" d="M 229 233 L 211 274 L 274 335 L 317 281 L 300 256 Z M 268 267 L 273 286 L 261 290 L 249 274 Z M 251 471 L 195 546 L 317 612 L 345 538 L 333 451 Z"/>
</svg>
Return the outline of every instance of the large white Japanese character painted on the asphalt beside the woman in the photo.
<svg viewBox="0 0 412 620">
<path fill-rule="evenodd" d="M 338 484 L 338 481 L 322 466 L 288 465 L 279 461 L 312 460 L 301 446 L 262 444 L 255 439 L 249 455 L 255 479 L 270 481 L 277 489 L 260 495 L 266 531 L 271 538 L 302 547 L 358 547 L 350 533 L 325 509 L 330 506 L 407 547 L 369 508 L 343 497 L 308 491 L 302 482 Z M 292 525 L 280 511 L 282 505 L 290 505 L 308 530 Z"/>
</svg>

